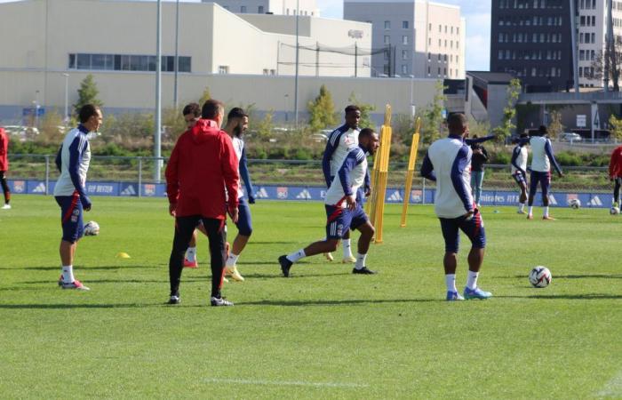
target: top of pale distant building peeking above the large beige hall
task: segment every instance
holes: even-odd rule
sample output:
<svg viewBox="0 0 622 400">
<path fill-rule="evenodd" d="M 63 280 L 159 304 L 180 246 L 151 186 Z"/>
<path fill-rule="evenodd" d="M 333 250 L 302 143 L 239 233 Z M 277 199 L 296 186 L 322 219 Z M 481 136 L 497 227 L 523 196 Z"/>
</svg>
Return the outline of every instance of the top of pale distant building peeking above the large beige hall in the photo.
<svg viewBox="0 0 622 400">
<path fill-rule="evenodd" d="M 203 3 L 216 3 L 239 14 L 296 15 L 296 7 L 299 6 L 300 15 L 320 16 L 315 0 L 203 0 Z"/>
</svg>

